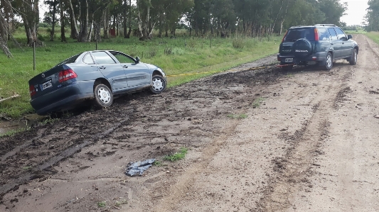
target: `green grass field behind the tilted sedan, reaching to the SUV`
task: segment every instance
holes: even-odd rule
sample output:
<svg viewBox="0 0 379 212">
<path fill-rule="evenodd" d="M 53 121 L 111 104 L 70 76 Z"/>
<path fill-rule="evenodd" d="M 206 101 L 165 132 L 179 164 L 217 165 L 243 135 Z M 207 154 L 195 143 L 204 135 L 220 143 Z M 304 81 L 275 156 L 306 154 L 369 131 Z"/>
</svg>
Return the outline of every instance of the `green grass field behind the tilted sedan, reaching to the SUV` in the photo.
<svg viewBox="0 0 379 212">
<path fill-rule="evenodd" d="M 69 33 L 67 34 L 69 35 Z M 23 44 L 22 33 L 15 35 Z M 0 96 L 7 98 L 14 94 L 20 97 L 1 101 L 0 114 L 18 118 L 26 113 L 33 113 L 29 101 L 28 80 L 41 72 L 50 69 L 58 62 L 87 50 L 95 50 L 95 43 L 78 43 L 68 39 L 50 42 L 48 33 L 45 46 L 36 48 L 36 70 L 33 71 L 33 48 L 16 47 L 9 43 L 13 58 L 0 54 Z M 189 38 L 182 36 L 176 39 L 153 38 L 142 42 L 138 38 L 111 38 L 98 43 L 98 50 L 119 50 L 133 57 L 139 56 L 142 62 L 159 65 L 166 74 L 183 74 L 195 72 L 221 72 L 237 65 L 251 62 L 277 52 L 282 37 L 267 38 Z M 209 74 L 196 74 L 185 77 L 169 77 L 168 87 L 190 82 Z"/>
</svg>

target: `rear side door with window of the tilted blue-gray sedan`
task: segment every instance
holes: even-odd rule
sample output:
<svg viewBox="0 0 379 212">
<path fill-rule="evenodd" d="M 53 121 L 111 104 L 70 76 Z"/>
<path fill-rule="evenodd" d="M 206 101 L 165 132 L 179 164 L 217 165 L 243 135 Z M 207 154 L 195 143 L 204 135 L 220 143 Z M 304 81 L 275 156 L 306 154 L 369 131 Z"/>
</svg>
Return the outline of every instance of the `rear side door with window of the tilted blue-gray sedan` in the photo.
<svg viewBox="0 0 379 212">
<path fill-rule="evenodd" d="M 95 58 L 96 65 L 99 67 L 100 72 L 110 81 L 114 90 L 128 87 L 124 68 L 108 55 L 107 52 L 96 51 L 91 52 L 91 54 Z"/>
</svg>

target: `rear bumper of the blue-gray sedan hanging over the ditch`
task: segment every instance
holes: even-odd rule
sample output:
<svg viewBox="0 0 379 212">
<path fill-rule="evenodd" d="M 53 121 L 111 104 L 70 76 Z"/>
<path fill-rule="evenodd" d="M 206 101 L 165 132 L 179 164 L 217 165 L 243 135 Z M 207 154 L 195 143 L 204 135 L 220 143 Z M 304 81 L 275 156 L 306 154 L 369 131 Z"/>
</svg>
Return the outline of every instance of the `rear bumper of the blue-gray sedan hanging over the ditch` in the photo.
<svg viewBox="0 0 379 212">
<path fill-rule="evenodd" d="M 93 84 L 94 81 L 73 82 L 65 87 L 60 87 L 55 91 L 32 99 L 31 106 L 36 110 L 38 115 L 46 115 L 52 111 L 73 108 L 85 99 L 94 98 Z"/>
</svg>

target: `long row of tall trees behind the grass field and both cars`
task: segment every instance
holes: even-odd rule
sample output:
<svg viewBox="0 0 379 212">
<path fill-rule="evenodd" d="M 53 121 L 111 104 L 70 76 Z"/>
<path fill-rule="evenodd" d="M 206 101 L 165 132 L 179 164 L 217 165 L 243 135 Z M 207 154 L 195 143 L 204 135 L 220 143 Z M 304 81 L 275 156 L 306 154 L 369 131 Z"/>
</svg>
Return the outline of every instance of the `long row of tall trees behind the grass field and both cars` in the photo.
<svg viewBox="0 0 379 212">
<path fill-rule="evenodd" d="M 263 36 L 283 33 L 290 26 L 340 21 L 347 4 L 340 0 L 45 0 L 45 18 L 39 17 L 40 0 L 0 0 L 0 43 L 6 43 L 21 20 L 28 44 L 40 43 L 40 20 L 51 23 L 50 40 L 60 23 L 60 39 L 78 42 L 107 39 L 110 29 L 130 38 L 175 36 L 179 26 L 191 36 L 222 38 L 232 33 Z M 70 35 L 65 34 L 69 27 Z"/>
</svg>

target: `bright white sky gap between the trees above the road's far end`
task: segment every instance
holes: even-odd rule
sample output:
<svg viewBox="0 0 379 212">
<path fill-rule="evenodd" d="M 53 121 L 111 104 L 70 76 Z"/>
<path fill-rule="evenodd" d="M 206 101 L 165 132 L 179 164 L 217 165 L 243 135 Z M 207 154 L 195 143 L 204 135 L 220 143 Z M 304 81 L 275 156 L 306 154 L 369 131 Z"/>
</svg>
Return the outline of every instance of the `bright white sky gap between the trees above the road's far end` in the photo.
<svg viewBox="0 0 379 212">
<path fill-rule="evenodd" d="M 346 16 L 342 16 L 341 21 L 345 22 L 347 26 L 361 25 L 366 14 L 365 9 L 368 8 L 368 0 L 342 0 L 341 2 L 348 3 Z"/>
</svg>

